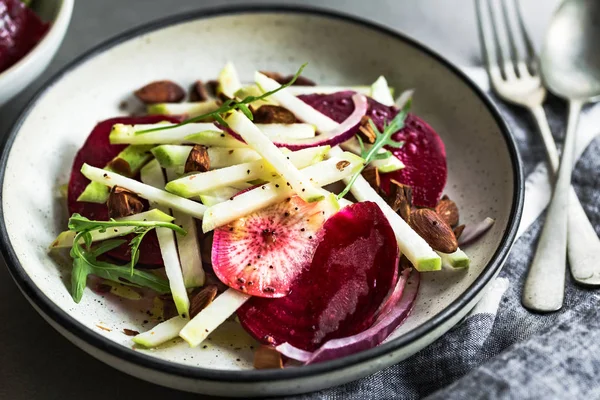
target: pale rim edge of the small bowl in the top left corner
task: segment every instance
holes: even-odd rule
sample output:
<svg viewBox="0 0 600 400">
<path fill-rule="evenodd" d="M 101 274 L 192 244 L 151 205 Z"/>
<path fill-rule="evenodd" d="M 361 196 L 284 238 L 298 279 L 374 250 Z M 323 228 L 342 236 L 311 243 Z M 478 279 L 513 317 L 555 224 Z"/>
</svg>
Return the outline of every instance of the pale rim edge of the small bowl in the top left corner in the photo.
<svg viewBox="0 0 600 400">
<path fill-rule="evenodd" d="M 23 57 L 21 57 L 16 63 L 0 72 L 0 82 L 5 79 L 10 79 L 10 77 L 18 74 L 20 71 L 27 69 L 29 65 L 35 64 L 37 61 L 38 54 L 46 47 L 51 46 L 52 41 L 55 36 L 64 35 L 64 32 L 67 30 L 69 23 L 71 22 L 71 16 L 73 15 L 73 6 L 75 4 L 75 0 L 59 0 L 60 4 L 58 5 L 58 11 L 54 16 L 54 19 L 50 22 L 50 29 L 44 35 L 42 40 L 40 40 L 31 50 L 27 52 Z M 61 40 L 62 41 L 62 40 Z M 56 46 L 56 50 L 54 53 L 58 51 L 60 47 L 60 43 Z M 23 68 L 22 68 L 23 67 Z M 36 94 L 37 97 L 37 94 Z"/>
</svg>

